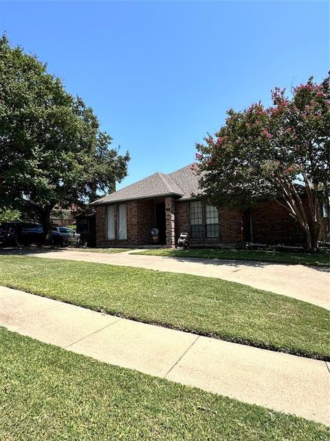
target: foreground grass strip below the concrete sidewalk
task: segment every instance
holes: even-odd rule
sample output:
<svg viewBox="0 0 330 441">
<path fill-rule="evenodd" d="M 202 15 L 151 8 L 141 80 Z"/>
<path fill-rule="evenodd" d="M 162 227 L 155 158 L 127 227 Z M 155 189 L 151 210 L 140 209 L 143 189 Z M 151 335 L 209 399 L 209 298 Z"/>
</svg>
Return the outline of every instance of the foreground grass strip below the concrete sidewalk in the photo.
<svg viewBox="0 0 330 441">
<path fill-rule="evenodd" d="M 323 424 L 98 362 L 0 327 L 5 441 L 325 441 Z"/>
</svg>

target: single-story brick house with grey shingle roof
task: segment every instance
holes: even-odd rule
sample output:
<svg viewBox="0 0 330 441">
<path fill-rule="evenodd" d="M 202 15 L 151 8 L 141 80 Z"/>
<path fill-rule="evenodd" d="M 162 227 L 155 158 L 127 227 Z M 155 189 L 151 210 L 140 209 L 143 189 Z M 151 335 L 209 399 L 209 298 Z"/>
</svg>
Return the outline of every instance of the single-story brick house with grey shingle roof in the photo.
<svg viewBox="0 0 330 441">
<path fill-rule="evenodd" d="M 151 244 L 151 229 L 159 229 L 162 245 L 173 247 L 181 232 L 190 245 L 303 243 L 300 229 L 287 210 L 263 202 L 251 210 L 204 205 L 197 174 L 187 165 L 170 174 L 155 173 L 91 203 L 96 208 L 96 246 Z"/>
</svg>

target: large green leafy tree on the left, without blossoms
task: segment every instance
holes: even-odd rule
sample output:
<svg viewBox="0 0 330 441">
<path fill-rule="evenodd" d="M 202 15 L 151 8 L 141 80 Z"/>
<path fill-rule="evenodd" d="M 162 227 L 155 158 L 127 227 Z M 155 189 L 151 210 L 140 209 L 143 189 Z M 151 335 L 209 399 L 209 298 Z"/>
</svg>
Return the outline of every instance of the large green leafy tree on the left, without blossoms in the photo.
<svg viewBox="0 0 330 441">
<path fill-rule="evenodd" d="M 81 205 L 126 176 L 129 153 L 111 148 L 91 107 L 47 66 L 0 39 L 0 205 L 31 213 Z"/>
</svg>

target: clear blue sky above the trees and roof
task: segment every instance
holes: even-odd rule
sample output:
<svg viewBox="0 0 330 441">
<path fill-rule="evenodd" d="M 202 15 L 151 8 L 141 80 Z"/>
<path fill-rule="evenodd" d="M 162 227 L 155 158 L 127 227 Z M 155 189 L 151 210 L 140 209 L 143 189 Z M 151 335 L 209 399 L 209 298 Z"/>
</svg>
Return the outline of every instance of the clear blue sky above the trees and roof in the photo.
<svg viewBox="0 0 330 441">
<path fill-rule="evenodd" d="M 129 150 L 118 188 L 192 163 L 228 108 L 329 70 L 327 1 L 0 1 L 0 31 Z"/>
</svg>

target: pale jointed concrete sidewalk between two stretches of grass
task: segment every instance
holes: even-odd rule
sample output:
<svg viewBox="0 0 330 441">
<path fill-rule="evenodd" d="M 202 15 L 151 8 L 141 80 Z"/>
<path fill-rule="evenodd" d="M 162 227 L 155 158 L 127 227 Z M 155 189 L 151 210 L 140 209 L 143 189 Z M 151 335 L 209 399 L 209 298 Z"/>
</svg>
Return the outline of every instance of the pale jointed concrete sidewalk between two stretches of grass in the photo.
<svg viewBox="0 0 330 441">
<path fill-rule="evenodd" d="M 0 325 L 103 362 L 330 425 L 330 373 L 322 361 L 145 325 L 5 287 Z"/>
</svg>

